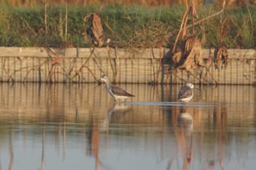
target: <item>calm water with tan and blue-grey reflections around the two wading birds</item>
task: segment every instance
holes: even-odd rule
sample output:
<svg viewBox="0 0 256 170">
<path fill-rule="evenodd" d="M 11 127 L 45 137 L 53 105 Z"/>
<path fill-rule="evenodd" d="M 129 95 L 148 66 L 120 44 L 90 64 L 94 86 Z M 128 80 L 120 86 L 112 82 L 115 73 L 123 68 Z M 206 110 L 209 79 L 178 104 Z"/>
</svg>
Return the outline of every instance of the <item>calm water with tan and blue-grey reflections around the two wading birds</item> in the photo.
<svg viewBox="0 0 256 170">
<path fill-rule="evenodd" d="M 0 85 L 0 169 L 255 169 L 256 88 Z"/>
</svg>

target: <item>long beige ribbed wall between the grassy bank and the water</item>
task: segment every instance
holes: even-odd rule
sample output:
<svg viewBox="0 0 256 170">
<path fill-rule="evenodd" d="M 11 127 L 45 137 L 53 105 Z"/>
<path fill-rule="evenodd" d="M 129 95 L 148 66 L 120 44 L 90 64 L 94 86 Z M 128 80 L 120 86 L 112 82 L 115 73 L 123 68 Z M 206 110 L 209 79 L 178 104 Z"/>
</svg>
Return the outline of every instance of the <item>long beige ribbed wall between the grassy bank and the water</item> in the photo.
<svg viewBox="0 0 256 170">
<path fill-rule="evenodd" d="M 0 47 L 0 79 L 3 82 L 94 82 L 102 74 L 107 74 L 121 83 L 200 83 L 185 70 L 165 74 L 170 67 L 170 49 L 92 50 Z M 203 68 L 192 73 L 204 82 L 214 84 L 216 80 L 218 84 L 231 85 L 256 83 L 256 50 L 228 50 L 227 69 L 220 71 L 212 63 L 214 49 L 203 49 L 202 53 L 210 73 Z"/>
</svg>

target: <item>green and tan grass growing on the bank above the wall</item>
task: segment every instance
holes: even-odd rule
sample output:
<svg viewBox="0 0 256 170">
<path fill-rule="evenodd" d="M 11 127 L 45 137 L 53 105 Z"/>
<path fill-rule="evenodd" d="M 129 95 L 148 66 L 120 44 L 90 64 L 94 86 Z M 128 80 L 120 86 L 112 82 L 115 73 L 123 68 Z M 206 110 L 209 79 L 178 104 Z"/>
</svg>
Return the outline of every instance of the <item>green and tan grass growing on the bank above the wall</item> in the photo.
<svg viewBox="0 0 256 170">
<path fill-rule="evenodd" d="M 92 47 L 91 39 L 83 42 L 83 31 L 86 24 L 83 18 L 89 12 L 97 12 L 99 6 L 69 6 L 67 39 L 64 36 L 65 7 L 50 5 L 48 7 L 48 33 L 44 31 L 44 7 L 33 8 L 0 7 L 0 46 L 23 47 Z M 206 18 L 219 11 L 214 6 L 197 8 L 196 20 Z M 175 7 L 143 7 L 140 5 L 119 6 L 110 4 L 99 13 L 100 18 L 108 23 L 111 30 L 104 24 L 104 36 L 111 39 L 111 47 L 173 47 L 184 6 Z M 249 15 L 251 14 L 251 17 Z M 191 24 L 189 20 L 187 25 Z M 221 15 L 204 21 L 195 26 L 195 35 L 202 40 L 203 47 L 216 47 L 220 43 L 219 26 L 221 21 L 229 18 L 223 44 L 229 48 L 256 47 L 256 7 L 229 8 Z M 62 25 L 63 34 L 60 34 Z M 42 28 L 42 32 L 37 30 Z M 192 28 L 187 29 L 192 34 Z"/>
</svg>

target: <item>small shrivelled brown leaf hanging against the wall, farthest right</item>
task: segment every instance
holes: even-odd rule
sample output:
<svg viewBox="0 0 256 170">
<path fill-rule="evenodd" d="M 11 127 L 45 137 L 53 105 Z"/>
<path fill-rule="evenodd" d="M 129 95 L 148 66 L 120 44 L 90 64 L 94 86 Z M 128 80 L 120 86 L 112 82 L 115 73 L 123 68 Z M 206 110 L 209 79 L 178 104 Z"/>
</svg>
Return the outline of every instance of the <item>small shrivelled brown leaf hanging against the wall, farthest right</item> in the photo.
<svg viewBox="0 0 256 170">
<path fill-rule="evenodd" d="M 214 67 L 215 69 L 226 69 L 228 63 L 228 53 L 227 48 L 224 46 L 219 46 L 214 50 Z"/>
</svg>

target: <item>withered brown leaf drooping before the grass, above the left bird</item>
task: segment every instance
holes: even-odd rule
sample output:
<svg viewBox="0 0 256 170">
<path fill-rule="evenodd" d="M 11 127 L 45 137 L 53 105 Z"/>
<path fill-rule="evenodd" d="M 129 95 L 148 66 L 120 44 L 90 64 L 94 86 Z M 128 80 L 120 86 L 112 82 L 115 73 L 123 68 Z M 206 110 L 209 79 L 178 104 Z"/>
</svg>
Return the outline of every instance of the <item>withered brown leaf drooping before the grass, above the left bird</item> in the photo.
<svg viewBox="0 0 256 170">
<path fill-rule="evenodd" d="M 96 47 L 101 47 L 103 44 L 103 28 L 99 16 L 91 13 L 86 15 L 83 20 L 90 24 L 89 28 L 86 30 L 86 33 L 91 36 L 92 43 Z"/>
</svg>

